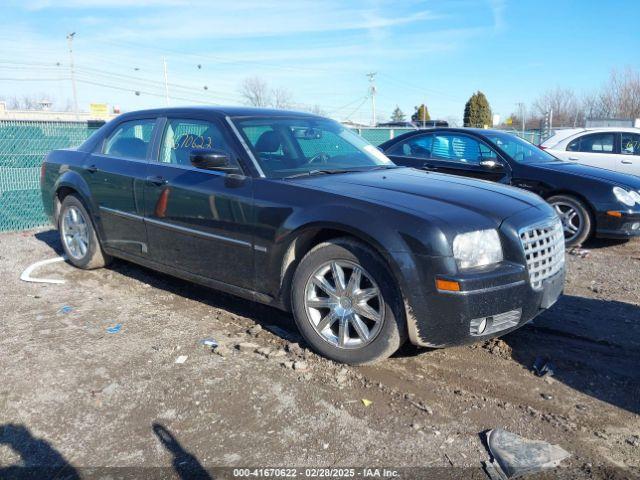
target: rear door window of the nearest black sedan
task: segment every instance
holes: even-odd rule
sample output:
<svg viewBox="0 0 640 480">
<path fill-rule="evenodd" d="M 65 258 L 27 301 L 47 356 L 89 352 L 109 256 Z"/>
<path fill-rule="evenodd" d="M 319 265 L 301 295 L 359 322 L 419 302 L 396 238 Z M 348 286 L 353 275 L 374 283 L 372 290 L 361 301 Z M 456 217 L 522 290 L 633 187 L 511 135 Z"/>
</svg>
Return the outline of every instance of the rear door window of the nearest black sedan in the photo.
<svg viewBox="0 0 640 480">
<path fill-rule="evenodd" d="M 121 123 L 104 142 L 102 153 L 134 160 L 146 159 L 155 124 L 155 119 Z"/>
</svg>

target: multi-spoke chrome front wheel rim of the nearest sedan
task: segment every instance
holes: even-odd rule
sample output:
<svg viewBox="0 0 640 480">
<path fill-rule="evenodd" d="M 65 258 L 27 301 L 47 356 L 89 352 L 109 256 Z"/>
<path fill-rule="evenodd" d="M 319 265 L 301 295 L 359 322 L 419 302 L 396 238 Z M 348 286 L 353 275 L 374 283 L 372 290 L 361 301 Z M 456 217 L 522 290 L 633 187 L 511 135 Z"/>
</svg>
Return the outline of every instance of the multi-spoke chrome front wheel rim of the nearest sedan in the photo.
<svg viewBox="0 0 640 480">
<path fill-rule="evenodd" d="M 337 260 L 316 269 L 305 287 L 304 307 L 313 328 L 339 348 L 361 348 L 384 322 L 378 285 L 360 265 Z"/>
</svg>

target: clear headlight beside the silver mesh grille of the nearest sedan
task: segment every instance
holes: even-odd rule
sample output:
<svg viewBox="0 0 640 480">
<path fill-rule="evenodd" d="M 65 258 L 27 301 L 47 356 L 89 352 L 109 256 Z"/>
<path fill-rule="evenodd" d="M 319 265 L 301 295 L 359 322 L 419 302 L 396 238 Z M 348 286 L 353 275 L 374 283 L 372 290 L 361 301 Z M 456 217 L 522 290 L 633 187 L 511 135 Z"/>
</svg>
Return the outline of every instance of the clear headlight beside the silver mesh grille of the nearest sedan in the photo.
<svg viewBox="0 0 640 480">
<path fill-rule="evenodd" d="M 453 256 L 459 268 L 480 267 L 502 261 L 502 244 L 496 230 L 461 233 L 453 239 Z"/>
</svg>

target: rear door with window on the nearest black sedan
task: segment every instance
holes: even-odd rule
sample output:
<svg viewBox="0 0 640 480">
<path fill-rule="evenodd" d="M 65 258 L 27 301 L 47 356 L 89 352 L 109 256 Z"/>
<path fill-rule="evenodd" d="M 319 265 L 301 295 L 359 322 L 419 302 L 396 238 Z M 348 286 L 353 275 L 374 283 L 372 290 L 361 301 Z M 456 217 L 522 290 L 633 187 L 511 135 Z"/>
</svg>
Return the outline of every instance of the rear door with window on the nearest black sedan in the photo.
<svg viewBox="0 0 640 480">
<path fill-rule="evenodd" d="M 142 195 L 155 126 L 155 118 L 116 125 L 87 156 L 83 169 L 104 245 L 138 256 L 148 252 Z"/>
</svg>

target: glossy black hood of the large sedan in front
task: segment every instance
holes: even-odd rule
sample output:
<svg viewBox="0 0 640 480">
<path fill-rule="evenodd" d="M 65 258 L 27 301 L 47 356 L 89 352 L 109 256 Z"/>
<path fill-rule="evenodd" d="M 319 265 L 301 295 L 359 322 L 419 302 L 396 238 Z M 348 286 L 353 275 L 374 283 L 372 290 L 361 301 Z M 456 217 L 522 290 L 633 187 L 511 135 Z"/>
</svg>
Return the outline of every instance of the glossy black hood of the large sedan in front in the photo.
<svg viewBox="0 0 640 480">
<path fill-rule="evenodd" d="M 505 218 L 545 205 L 535 194 L 499 183 L 412 168 L 308 177 L 322 190 L 395 206 L 423 216 L 498 227 Z"/>
</svg>

